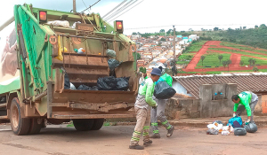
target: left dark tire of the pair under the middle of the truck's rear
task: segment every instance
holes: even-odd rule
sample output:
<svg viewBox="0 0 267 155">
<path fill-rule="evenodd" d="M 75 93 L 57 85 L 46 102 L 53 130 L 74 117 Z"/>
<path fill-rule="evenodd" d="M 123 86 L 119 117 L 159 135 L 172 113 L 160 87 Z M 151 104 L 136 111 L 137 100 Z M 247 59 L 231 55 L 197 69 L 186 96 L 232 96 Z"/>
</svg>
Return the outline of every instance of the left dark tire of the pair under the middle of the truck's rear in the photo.
<svg viewBox="0 0 267 155">
<path fill-rule="evenodd" d="M 93 119 L 73 120 L 73 125 L 77 131 L 88 131 L 93 127 Z"/>
</svg>

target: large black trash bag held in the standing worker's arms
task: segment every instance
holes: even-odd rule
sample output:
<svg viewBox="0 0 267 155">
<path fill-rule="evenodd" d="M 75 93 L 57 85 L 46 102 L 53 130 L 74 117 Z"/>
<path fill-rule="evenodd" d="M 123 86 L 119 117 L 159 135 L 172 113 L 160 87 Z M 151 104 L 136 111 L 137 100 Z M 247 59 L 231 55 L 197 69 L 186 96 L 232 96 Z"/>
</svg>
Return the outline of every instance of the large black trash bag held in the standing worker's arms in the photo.
<svg viewBox="0 0 267 155">
<path fill-rule="evenodd" d="M 159 81 L 154 90 L 154 96 L 158 99 L 174 97 L 175 93 L 176 91 L 171 88 L 166 81 Z"/>
</svg>

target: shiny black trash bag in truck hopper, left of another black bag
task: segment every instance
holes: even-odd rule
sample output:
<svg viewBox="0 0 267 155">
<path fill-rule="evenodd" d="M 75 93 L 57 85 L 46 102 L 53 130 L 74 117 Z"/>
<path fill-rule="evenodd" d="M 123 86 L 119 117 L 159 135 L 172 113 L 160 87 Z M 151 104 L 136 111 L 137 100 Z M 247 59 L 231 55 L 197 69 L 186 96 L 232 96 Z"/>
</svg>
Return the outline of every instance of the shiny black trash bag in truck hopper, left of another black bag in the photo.
<svg viewBox="0 0 267 155">
<path fill-rule="evenodd" d="M 116 90 L 117 79 L 114 76 L 102 77 L 97 80 L 99 90 Z"/>
</svg>

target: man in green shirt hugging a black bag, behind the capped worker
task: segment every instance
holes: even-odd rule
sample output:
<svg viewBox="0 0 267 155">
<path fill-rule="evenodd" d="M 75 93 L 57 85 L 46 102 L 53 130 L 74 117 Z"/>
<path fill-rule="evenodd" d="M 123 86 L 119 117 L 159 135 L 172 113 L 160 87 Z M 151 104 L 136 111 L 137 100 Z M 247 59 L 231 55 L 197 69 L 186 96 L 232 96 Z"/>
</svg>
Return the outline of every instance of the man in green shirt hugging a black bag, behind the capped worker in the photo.
<svg viewBox="0 0 267 155">
<path fill-rule="evenodd" d="M 173 83 L 173 78 L 169 75 L 166 74 L 163 71 L 162 66 L 158 67 L 161 71 L 161 76 L 158 81 L 166 81 L 166 83 L 172 87 Z M 158 83 L 156 82 L 156 84 Z M 168 120 L 166 120 L 166 115 L 165 115 L 165 106 L 166 106 L 166 101 L 167 99 L 158 99 L 153 96 L 153 99 L 156 100 L 158 107 L 152 108 L 151 110 L 151 127 L 153 129 L 153 135 L 150 136 L 150 138 L 160 138 L 160 135 L 158 133 L 158 120 L 160 120 L 161 124 L 167 129 L 167 137 L 170 137 L 173 135 L 174 132 L 174 126 L 170 125 Z"/>
</svg>

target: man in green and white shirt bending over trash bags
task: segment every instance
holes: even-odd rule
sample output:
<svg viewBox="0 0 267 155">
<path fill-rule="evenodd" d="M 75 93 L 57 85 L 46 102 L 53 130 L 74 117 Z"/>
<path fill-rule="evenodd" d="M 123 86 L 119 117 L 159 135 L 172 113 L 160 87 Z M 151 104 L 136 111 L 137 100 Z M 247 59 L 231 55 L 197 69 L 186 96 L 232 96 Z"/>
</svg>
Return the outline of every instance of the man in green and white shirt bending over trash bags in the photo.
<svg viewBox="0 0 267 155">
<path fill-rule="evenodd" d="M 240 116 L 241 113 L 246 109 L 247 110 L 247 121 L 246 125 L 249 122 L 253 121 L 253 112 L 255 110 L 255 105 L 258 103 L 258 97 L 250 91 L 243 91 L 239 95 L 233 95 L 231 100 L 235 103 L 233 108 L 233 117 L 236 115 Z"/>
</svg>

